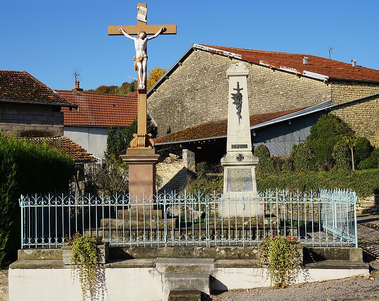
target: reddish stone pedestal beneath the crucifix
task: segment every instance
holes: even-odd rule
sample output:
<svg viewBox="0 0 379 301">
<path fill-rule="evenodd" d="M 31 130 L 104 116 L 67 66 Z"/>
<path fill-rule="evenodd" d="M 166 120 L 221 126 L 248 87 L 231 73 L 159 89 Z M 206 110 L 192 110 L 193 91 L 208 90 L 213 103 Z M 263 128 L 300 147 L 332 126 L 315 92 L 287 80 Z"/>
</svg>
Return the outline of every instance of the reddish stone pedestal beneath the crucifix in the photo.
<svg viewBox="0 0 379 301">
<path fill-rule="evenodd" d="M 159 155 L 154 147 L 128 148 L 126 155 L 120 156 L 129 164 L 129 193 L 133 201 L 154 198 L 155 195 L 155 165 Z"/>
</svg>

